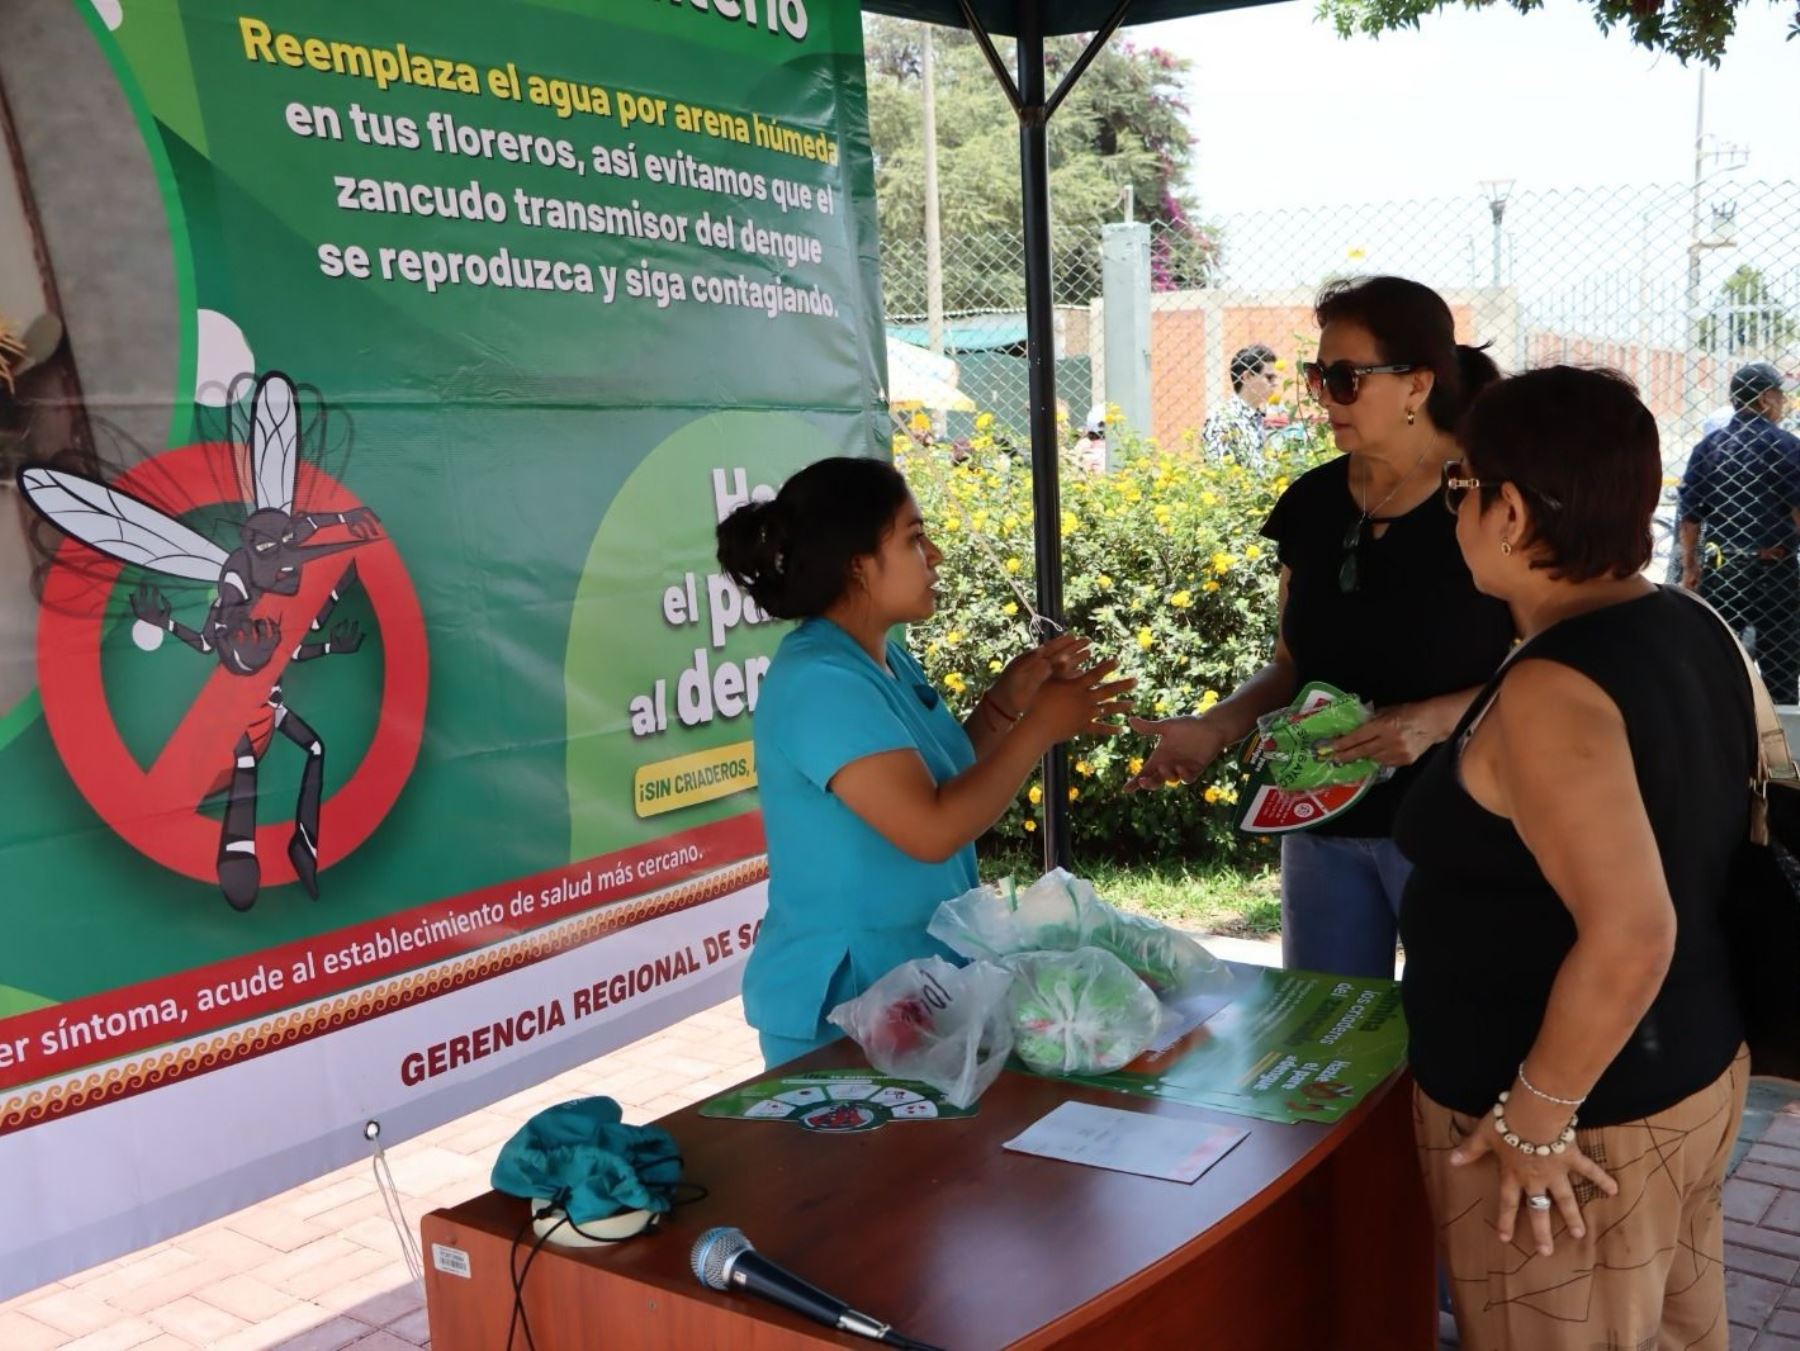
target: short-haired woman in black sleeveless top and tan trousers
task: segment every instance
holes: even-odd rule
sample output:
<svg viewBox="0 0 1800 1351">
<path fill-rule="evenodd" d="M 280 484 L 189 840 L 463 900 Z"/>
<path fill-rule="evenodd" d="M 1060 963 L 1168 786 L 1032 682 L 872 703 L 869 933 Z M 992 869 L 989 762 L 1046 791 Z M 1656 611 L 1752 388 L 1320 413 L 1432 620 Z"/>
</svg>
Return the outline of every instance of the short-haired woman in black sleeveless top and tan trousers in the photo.
<svg viewBox="0 0 1800 1351">
<path fill-rule="evenodd" d="M 1501 381 L 1444 480 L 1525 635 L 1395 826 L 1413 1121 L 1462 1342 L 1724 1351 L 1742 655 L 1643 577 L 1663 468 L 1622 376 Z"/>
</svg>

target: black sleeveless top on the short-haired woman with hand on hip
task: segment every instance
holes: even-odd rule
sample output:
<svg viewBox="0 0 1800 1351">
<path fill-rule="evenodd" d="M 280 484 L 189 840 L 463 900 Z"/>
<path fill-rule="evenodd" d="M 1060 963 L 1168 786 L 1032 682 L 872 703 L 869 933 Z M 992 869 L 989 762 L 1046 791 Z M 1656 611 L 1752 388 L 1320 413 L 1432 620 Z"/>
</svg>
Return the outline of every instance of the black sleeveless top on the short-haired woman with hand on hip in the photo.
<svg viewBox="0 0 1800 1351">
<path fill-rule="evenodd" d="M 1566 619 L 1517 657 L 1573 667 L 1618 705 L 1674 898 L 1663 988 L 1580 1114 L 1618 1124 L 1705 1088 L 1744 1036 L 1719 907 L 1750 831 L 1750 682 L 1723 624 L 1670 590 Z M 1463 732 L 1505 675 L 1431 756 L 1395 828 L 1415 865 L 1400 905 L 1413 1076 L 1469 1115 L 1512 1083 L 1575 943 L 1575 921 L 1512 822 L 1483 810 L 1458 774 Z"/>
</svg>

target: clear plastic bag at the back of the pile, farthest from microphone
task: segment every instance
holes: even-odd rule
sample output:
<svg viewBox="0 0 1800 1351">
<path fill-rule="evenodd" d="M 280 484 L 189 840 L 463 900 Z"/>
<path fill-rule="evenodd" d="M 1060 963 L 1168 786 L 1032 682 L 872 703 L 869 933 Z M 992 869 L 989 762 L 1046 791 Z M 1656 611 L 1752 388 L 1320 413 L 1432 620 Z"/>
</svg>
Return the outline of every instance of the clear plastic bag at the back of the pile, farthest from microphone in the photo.
<svg viewBox="0 0 1800 1351">
<path fill-rule="evenodd" d="M 929 932 L 952 952 L 986 961 L 1017 952 L 1102 948 L 1170 1002 L 1231 980 L 1224 964 L 1179 928 L 1114 910 L 1093 885 L 1060 867 L 1024 890 L 1003 881 L 945 901 Z"/>
</svg>

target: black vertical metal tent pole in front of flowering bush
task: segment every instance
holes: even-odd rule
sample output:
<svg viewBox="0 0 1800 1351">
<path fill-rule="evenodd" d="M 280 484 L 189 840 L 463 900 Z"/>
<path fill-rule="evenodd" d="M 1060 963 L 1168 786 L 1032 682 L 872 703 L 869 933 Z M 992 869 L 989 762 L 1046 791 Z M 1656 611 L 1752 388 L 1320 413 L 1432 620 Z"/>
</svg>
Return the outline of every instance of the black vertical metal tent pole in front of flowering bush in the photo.
<svg viewBox="0 0 1800 1351">
<path fill-rule="evenodd" d="M 1049 252 L 1049 108 L 1044 0 L 1019 0 L 1019 169 L 1024 185 L 1024 327 L 1030 362 L 1031 516 L 1037 608 L 1062 622 L 1062 495 L 1057 484 L 1057 331 Z M 1044 867 L 1069 867 L 1069 757 L 1044 759 Z"/>
</svg>

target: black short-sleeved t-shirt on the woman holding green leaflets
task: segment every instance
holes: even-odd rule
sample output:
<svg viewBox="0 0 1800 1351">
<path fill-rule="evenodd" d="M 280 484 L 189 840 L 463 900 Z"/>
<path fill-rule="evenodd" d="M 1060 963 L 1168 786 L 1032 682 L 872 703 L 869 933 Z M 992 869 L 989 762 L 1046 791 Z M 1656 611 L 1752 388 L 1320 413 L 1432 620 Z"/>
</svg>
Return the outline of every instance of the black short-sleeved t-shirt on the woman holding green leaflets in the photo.
<svg viewBox="0 0 1800 1351">
<path fill-rule="evenodd" d="M 1262 527 L 1292 572 L 1282 635 L 1300 682 L 1325 680 L 1377 709 L 1487 684 L 1512 649 L 1512 613 L 1474 588 L 1456 518 L 1438 497 L 1377 516 L 1388 529 L 1379 540 L 1373 527 L 1363 531 L 1357 590 L 1345 592 L 1345 536 L 1361 516 L 1343 455 L 1294 482 Z M 1316 833 L 1391 835 L 1417 775 L 1418 765 L 1400 770 Z"/>
</svg>

